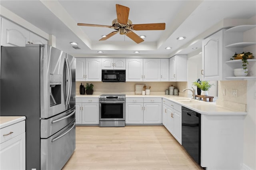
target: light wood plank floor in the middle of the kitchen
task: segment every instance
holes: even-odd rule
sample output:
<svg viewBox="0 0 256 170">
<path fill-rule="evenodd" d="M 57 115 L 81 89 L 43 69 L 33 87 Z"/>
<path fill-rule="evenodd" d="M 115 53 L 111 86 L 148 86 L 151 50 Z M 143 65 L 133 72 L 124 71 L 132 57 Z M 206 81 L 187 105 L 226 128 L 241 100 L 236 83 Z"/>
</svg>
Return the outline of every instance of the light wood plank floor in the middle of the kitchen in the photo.
<svg viewBox="0 0 256 170">
<path fill-rule="evenodd" d="M 164 126 L 76 127 L 63 170 L 199 170 Z"/>
</svg>

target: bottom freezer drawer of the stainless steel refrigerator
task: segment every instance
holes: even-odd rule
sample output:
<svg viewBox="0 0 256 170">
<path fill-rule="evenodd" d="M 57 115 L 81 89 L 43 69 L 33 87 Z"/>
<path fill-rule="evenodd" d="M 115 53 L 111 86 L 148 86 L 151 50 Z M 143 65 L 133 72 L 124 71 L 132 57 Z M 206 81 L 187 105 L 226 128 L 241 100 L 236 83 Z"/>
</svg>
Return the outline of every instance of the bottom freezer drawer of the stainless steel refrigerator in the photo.
<svg viewBox="0 0 256 170">
<path fill-rule="evenodd" d="M 41 139 L 41 170 L 60 170 L 76 148 L 76 123 L 72 121 L 47 139 Z"/>
</svg>

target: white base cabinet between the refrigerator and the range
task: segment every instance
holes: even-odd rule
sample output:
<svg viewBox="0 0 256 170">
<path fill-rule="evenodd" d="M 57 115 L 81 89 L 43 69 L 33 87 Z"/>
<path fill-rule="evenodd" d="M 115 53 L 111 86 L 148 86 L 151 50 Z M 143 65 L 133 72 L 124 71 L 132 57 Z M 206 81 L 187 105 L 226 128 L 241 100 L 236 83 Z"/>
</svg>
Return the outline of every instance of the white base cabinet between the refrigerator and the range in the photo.
<svg viewBox="0 0 256 170">
<path fill-rule="evenodd" d="M 99 99 L 77 98 L 76 99 L 76 124 L 98 125 L 99 124 Z"/>
</svg>

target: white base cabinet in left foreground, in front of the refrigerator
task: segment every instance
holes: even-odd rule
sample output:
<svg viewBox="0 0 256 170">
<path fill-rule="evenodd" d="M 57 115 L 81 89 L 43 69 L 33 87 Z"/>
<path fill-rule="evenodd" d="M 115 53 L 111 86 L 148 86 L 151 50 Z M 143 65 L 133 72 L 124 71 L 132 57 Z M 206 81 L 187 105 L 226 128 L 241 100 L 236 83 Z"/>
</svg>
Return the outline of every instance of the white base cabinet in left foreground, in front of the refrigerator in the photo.
<svg viewBox="0 0 256 170">
<path fill-rule="evenodd" d="M 11 133 L 12 132 L 12 133 Z M 25 121 L 0 129 L 0 169 L 25 170 L 26 135 Z M 29 146 L 28 146 L 29 147 Z"/>
</svg>

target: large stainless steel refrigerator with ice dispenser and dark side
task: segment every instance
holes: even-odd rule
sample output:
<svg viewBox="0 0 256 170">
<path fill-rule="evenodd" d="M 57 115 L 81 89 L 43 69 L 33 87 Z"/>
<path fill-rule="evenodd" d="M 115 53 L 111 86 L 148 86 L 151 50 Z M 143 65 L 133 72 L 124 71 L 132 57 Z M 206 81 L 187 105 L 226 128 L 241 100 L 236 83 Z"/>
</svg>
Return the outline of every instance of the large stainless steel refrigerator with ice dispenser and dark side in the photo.
<svg viewBox="0 0 256 170">
<path fill-rule="evenodd" d="M 1 46 L 0 116 L 26 116 L 26 170 L 60 170 L 73 154 L 75 74 L 49 45 Z"/>
</svg>

